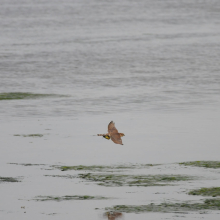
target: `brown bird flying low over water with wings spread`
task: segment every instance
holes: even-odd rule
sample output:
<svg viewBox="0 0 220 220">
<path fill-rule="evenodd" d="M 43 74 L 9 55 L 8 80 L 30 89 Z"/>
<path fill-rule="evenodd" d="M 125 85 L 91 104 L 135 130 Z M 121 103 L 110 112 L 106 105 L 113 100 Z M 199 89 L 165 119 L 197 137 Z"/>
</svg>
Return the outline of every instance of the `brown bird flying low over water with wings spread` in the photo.
<svg viewBox="0 0 220 220">
<path fill-rule="evenodd" d="M 118 133 L 118 130 L 115 127 L 115 123 L 111 121 L 108 124 L 108 133 L 107 134 L 97 134 L 98 136 L 102 136 L 105 139 L 111 139 L 115 144 L 122 144 L 121 137 L 125 136 L 123 133 Z"/>
</svg>

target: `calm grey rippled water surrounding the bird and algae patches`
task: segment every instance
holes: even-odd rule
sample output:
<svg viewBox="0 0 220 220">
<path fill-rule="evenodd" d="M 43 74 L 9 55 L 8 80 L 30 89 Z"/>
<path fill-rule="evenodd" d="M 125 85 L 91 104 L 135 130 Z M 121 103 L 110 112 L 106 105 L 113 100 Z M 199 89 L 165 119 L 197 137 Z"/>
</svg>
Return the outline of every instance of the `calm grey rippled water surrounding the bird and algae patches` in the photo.
<svg viewBox="0 0 220 220">
<path fill-rule="evenodd" d="M 63 96 L 0 100 L 0 176 L 22 179 L 0 184 L 0 216 L 102 219 L 105 207 L 190 200 L 179 195 L 181 187 L 213 186 L 200 181 L 122 189 L 44 175 L 63 174 L 48 170 L 51 165 L 136 163 L 169 164 L 156 173 L 211 175 L 170 164 L 219 160 L 219 9 L 217 0 L 1 1 L 0 93 Z M 106 132 L 111 120 L 125 133 L 123 146 L 93 136 Z M 158 190 L 165 195 L 155 195 Z M 33 201 L 76 194 L 117 199 Z M 186 217 L 204 215 L 145 213 L 124 219 Z"/>
</svg>

